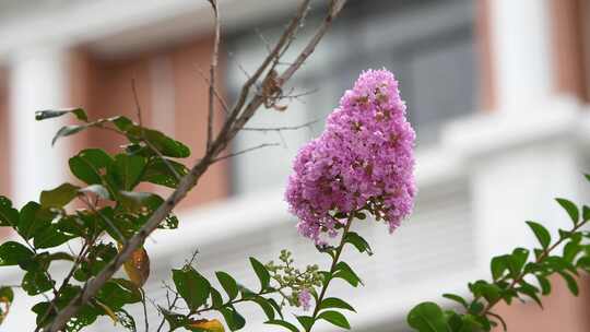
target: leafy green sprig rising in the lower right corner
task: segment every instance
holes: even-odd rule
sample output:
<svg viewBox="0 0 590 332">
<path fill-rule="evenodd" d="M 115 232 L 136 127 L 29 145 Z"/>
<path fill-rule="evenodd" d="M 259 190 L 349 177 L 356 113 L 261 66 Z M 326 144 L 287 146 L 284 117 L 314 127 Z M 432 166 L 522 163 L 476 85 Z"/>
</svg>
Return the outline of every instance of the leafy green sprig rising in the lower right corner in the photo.
<svg viewBox="0 0 590 332">
<path fill-rule="evenodd" d="M 586 177 L 590 180 L 590 176 Z M 489 264 L 492 280 L 469 283 L 471 300 L 457 294 L 444 295 L 455 301 L 461 312 L 444 310 L 432 301 L 423 303 L 408 315 L 410 327 L 421 332 L 470 332 L 489 331 L 500 325 L 506 331 L 508 327 L 493 311 L 494 307 L 498 303 L 510 305 L 515 299 L 529 299 L 543 308 L 542 297 L 551 294 L 553 275 L 559 275 L 577 296 L 579 274 L 590 272 L 590 233 L 583 228 L 590 221 L 590 208 L 580 209 L 563 198 L 556 201 L 571 221 L 569 229 L 558 229 L 558 237 L 552 239 L 545 226 L 527 222 L 539 242 L 536 248 L 532 251 L 516 248 L 510 253 L 494 257 Z"/>
</svg>

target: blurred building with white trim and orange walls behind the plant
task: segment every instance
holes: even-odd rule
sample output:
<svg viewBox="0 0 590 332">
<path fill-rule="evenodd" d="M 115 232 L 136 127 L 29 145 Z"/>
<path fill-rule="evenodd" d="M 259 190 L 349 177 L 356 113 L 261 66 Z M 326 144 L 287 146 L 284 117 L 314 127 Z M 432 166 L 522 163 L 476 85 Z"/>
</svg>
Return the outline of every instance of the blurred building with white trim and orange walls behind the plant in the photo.
<svg viewBox="0 0 590 332">
<path fill-rule="evenodd" d="M 326 2 L 314 2 L 294 49 L 310 36 Z M 232 100 L 298 1 L 220 3 L 219 88 Z M 42 189 L 72 180 L 67 159 L 78 150 L 115 151 L 120 142 L 99 131 L 51 149 L 50 138 L 63 123 L 35 122 L 34 111 L 82 106 L 92 118 L 133 116 L 131 80 L 146 124 L 188 142 L 198 158 L 206 126 L 200 71 L 209 66 L 211 16 L 205 0 L 0 0 L 0 194 L 17 204 L 35 200 Z M 291 161 L 318 135 L 359 72 L 384 67 L 401 81 L 417 131 L 420 193 L 415 213 L 393 235 L 382 225 L 356 226 L 376 252 L 346 257 L 366 286 L 331 289 L 356 307 L 354 331 L 409 331 L 404 318 L 413 305 L 464 293 L 467 281 L 488 276 L 493 254 L 533 246 L 526 220 L 566 227 L 554 197 L 589 198 L 581 175 L 590 169 L 589 0 L 351 0 L 286 90 L 297 96 L 288 110 L 261 109 L 249 127 L 317 122 L 237 138 L 234 152 L 280 146 L 209 171 L 179 209 L 180 230 L 149 239 L 148 294 L 165 303 L 161 281 L 169 281 L 169 269 L 194 249 L 206 275 L 227 270 L 250 285 L 256 280 L 249 256 L 268 261 L 286 248 L 302 265 L 326 263 L 297 235 L 282 200 Z M 20 283 L 7 271 L 0 284 Z M 505 315 L 509 331 L 590 331 L 590 281 L 581 283 L 575 298 L 555 280 L 544 312 L 523 303 L 497 313 Z M 33 304 L 17 297 L 0 331 L 32 330 Z M 245 331 L 275 330 L 261 324 L 258 308 L 241 310 L 252 317 Z M 117 329 L 104 319 L 91 331 Z"/>
</svg>

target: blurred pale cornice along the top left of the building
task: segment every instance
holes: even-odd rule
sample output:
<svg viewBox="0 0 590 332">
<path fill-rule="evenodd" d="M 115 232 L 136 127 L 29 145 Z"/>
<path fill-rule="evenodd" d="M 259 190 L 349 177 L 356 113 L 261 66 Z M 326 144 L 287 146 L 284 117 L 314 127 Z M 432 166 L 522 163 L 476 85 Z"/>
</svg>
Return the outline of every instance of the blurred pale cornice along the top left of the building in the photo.
<svg viewBox="0 0 590 332">
<path fill-rule="evenodd" d="M 221 0 L 224 29 L 288 12 L 290 0 Z M 121 57 L 211 32 L 206 1 L 99 0 L 23 13 L 0 23 L 0 59 L 38 44 L 87 45 L 105 57 Z"/>
</svg>

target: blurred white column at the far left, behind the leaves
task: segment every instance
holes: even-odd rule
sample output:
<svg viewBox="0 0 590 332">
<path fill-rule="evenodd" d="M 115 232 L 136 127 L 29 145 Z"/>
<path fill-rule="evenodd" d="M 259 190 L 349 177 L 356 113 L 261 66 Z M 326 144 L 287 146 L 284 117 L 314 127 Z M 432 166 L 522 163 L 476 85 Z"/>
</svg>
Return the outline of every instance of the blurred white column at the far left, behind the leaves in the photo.
<svg viewBox="0 0 590 332">
<path fill-rule="evenodd" d="M 51 147 L 66 119 L 36 121 L 35 111 L 68 106 L 68 52 L 55 46 L 32 47 L 10 60 L 10 167 L 14 203 L 22 205 L 67 179 L 69 142 Z"/>
</svg>

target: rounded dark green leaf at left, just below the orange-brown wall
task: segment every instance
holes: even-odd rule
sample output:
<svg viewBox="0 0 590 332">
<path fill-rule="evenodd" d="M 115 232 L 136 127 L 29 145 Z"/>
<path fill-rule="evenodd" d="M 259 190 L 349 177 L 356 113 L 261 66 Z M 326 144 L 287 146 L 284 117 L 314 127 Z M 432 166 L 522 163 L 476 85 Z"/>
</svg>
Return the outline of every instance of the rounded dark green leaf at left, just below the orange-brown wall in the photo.
<svg viewBox="0 0 590 332">
<path fill-rule="evenodd" d="M 69 162 L 72 174 L 87 185 L 104 185 L 103 174 L 113 163 L 113 158 L 99 149 L 83 150 Z"/>
</svg>

